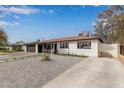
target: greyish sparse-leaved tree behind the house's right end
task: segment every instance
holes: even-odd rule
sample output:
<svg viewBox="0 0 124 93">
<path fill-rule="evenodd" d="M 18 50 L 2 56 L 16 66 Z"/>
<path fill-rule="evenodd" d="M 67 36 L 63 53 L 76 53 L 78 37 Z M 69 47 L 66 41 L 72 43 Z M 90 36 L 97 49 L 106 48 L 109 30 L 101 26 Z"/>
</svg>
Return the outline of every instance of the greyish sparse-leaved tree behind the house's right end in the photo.
<svg viewBox="0 0 124 93">
<path fill-rule="evenodd" d="M 97 15 L 95 20 L 96 36 L 100 37 L 104 42 L 109 43 L 109 33 L 112 33 L 112 14 L 113 11 L 106 10 Z"/>
</svg>

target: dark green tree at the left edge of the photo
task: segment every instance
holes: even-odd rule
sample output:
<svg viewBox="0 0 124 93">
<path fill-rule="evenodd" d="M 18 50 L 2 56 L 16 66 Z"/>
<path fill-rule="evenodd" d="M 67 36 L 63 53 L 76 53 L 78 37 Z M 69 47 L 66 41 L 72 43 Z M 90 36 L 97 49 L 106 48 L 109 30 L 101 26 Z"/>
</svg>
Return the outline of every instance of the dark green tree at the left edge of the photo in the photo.
<svg viewBox="0 0 124 93">
<path fill-rule="evenodd" d="M 0 29 L 0 46 L 7 45 L 8 36 L 3 29 Z"/>
</svg>

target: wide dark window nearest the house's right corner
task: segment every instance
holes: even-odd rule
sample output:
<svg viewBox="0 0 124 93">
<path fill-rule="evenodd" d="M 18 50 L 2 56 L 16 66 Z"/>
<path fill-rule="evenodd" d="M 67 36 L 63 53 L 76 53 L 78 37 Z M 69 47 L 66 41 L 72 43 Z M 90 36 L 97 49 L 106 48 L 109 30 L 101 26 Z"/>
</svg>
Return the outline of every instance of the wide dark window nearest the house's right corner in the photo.
<svg viewBox="0 0 124 93">
<path fill-rule="evenodd" d="M 91 41 L 80 41 L 77 42 L 78 49 L 91 49 Z"/>
</svg>

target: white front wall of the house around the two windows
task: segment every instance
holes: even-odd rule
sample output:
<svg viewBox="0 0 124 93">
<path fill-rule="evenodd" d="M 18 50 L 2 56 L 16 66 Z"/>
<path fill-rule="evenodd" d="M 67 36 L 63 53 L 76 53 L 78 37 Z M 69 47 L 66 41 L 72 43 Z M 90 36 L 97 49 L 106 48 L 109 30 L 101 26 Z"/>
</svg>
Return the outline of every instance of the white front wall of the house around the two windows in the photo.
<svg viewBox="0 0 124 93">
<path fill-rule="evenodd" d="M 98 57 L 98 40 L 91 40 L 91 49 L 78 49 L 77 41 L 69 42 L 69 49 L 61 49 L 60 43 L 57 43 L 57 50 L 59 54 L 73 54 L 84 56 Z"/>
</svg>

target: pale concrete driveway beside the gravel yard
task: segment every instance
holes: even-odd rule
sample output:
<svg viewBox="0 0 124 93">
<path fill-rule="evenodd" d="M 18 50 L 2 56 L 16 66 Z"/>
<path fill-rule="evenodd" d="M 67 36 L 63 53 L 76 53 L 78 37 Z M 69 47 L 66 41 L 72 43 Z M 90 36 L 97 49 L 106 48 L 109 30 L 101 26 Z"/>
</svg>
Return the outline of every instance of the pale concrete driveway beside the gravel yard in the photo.
<svg viewBox="0 0 124 93">
<path fill-rule="evenodd" d="M 48 87 L 124 87 L 124 66 L 112 58 L 87 58 L 61 74 Z"/>
</svg>

